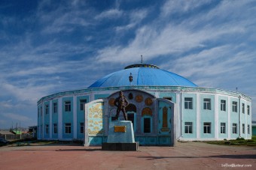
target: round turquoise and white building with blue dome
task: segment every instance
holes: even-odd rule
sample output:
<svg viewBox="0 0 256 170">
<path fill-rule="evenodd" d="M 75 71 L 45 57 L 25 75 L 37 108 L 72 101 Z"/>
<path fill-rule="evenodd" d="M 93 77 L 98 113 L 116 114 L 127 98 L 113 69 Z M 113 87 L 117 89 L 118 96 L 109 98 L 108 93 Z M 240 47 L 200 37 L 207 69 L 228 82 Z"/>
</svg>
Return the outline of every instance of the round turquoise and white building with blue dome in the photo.
<svg viewBox="0 0 256 170">
<path fill-rule="evenodd" d="M 107 141 L 114 100 L 123 91 L 140 145 L 175 141 L 251 139 L 251 98 L 233 91 L 200 88 L 152 64 L 132 64 L 86 89 L 63 91 L 38 101 L 38 139 Z M 123 114 L 119 116 L 123 120 Z"/>
</svg>

